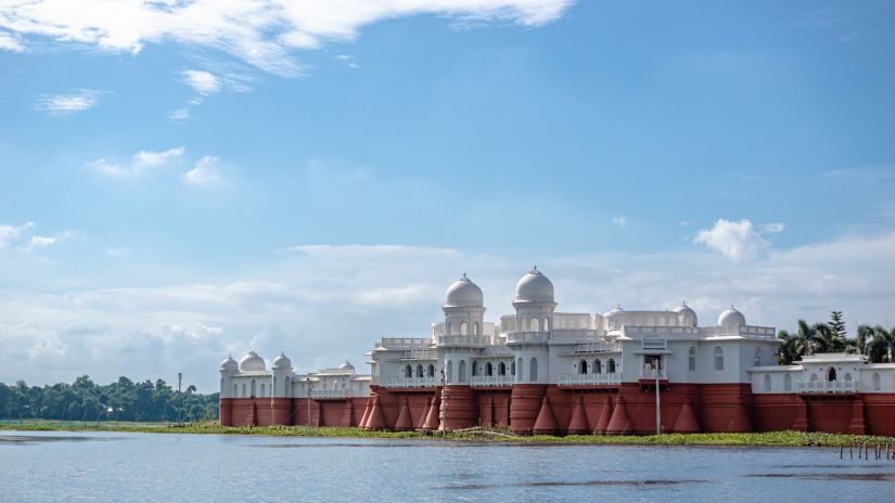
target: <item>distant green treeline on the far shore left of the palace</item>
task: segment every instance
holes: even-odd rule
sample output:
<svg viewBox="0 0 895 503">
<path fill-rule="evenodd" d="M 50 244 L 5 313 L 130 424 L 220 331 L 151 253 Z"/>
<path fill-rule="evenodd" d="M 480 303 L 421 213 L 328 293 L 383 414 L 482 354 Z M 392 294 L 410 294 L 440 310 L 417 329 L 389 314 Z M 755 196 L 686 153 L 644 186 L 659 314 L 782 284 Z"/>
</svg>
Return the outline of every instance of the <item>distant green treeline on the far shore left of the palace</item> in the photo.
<svg viewBox="0 0 895 503">
<path fill-rule="evenodd" d="M 72 384 L 43 387 L 18 381 L 13 386 L 0 383 L 0 420 L 215 421 L 218 396 L 197 394 L 192 385 L 178 392 L 162 379 L 135 383 L 118 377 L 103 386 L 82 375 Z"/>
</svg>

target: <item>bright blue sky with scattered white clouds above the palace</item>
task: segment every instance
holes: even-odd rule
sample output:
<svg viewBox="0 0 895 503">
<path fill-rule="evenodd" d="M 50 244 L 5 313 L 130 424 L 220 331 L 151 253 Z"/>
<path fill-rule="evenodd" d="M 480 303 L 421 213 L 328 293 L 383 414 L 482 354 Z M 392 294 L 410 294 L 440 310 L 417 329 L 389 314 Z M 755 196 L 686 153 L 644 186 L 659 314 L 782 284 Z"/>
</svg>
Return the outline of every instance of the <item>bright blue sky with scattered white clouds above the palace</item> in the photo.
<svg viewBox="0 0 895 503">
<path fill-rule="evenodd" d="M 888 1 L 0 1 L 0 382 L 497 321 L 895 325 Z"/>
</svg>

